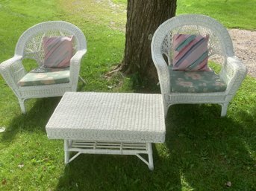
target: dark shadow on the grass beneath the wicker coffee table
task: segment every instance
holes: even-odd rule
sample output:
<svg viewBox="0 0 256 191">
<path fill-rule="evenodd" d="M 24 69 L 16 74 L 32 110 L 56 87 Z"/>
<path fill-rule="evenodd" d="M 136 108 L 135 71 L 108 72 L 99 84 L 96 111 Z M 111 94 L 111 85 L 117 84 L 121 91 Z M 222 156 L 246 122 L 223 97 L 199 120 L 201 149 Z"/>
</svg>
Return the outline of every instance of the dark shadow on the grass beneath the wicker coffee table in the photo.
<svg viewBox="0 0 256 191">
<path fill-rule="evenodd" d="M 154 170 L 134 155 L 80 155 L 65 166 L 54 190 L 176 190 L 180 174 L 153 144 Z"/>
</svg>

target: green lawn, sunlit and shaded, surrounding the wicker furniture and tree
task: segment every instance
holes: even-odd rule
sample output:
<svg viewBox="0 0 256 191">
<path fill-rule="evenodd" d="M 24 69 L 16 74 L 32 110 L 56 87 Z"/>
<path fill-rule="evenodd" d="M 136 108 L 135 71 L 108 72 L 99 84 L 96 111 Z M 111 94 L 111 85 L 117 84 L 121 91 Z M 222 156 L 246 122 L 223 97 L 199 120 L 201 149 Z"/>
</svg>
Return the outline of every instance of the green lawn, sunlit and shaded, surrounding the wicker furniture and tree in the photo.
<svg viewBox="0 0 256 191">
<path fill-rule="evenodd" d="M 193 1 L 178 0 L 178 13 L 197 13 L 196 1 L 189 2 Z M 234 1 L 218 2 L 233 10 Z M 246 1 L 249 6 L 248 2 L 255 6 L 255 0 Z M 187 9 L 181 12 L 180 4 L 187 4 Z M 79 91 L 136 91 L 129 77 L 105 77 L 124 51 L 125 1 L 119 6 L 93 0 L 0 1 L 0 62 L 13 56 L 17 39 L 28 27 L 65 20 L 87 37 L 88 52 L 81 65 L 87 85 L 79 82 Z M 226 10 L 217 6 L 210 11 L 228 27 L 255 29 L 255 17 L 247 9 L 244 23 L 218 17 L 218 11 Z M 151 172 L 135 156 L 80 155 L 65 166 L 63 141 L 49 140 L 45 129 L 60 97 L 28 100 L 28 113 L 21 114 L 16 97 L 0 77 L 0 127 L 6 128 L 0 133 L 0 190 L 256 190 L 255 87 L 256 80 L 246 77 L 227 117 L 219 117 L 216 105 L 171 106 L 166 142 L 154 144 Z M 231 187 L 225 185 L 228 181 Z"/>
</svg>

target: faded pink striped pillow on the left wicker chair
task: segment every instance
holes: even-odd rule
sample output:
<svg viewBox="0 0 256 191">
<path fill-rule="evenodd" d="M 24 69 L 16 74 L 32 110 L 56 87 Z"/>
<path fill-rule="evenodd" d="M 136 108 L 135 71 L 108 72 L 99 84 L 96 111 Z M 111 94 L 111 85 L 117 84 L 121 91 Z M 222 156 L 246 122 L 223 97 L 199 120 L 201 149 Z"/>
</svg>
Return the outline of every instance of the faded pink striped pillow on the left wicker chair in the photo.
<svg viewBox="0 0 256 191">
<path fill-rule="evenodd" d="M 72 40 L 73 36 L 54 36 L 43 38 L 44 66 L 68 67 L 72 58 Z"/>
</svg>

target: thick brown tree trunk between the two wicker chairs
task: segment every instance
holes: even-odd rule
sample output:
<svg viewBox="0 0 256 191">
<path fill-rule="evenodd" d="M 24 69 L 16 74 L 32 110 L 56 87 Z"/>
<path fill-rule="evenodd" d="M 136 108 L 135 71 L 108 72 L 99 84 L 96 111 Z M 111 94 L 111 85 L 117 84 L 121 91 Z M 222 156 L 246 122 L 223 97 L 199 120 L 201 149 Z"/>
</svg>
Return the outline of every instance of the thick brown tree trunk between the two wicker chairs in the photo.
<svg viewBox="0 0 256 191">
<path fill-rule="evenodd" d="M 140 80 L 156 80 L 151 56 L 154 31 L 175 16 L 176 0 L 128 0 L 125 56 L 122 71 L 138 74 Z"/>
</svg>

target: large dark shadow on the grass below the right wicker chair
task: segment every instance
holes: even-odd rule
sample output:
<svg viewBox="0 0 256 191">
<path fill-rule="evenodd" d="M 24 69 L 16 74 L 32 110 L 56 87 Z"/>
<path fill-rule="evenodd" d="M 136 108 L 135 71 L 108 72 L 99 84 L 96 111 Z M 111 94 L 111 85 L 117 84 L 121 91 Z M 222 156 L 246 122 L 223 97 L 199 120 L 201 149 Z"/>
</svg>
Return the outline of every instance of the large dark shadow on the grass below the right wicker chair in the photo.
<svg viewBox="0 0 256 191">
<path fill-rule="evenodd" d="M 220 110 L 217 105 L 169 108 L 166 146 L 170 162 L 180 171 L 187 190 L 256 190 L 256 136 L 255 127 L 249 126 L 256 124 L 255 112 L 219 117 Z M 234 121 L 236 117 L 243 120 Z"/>
</svg>

